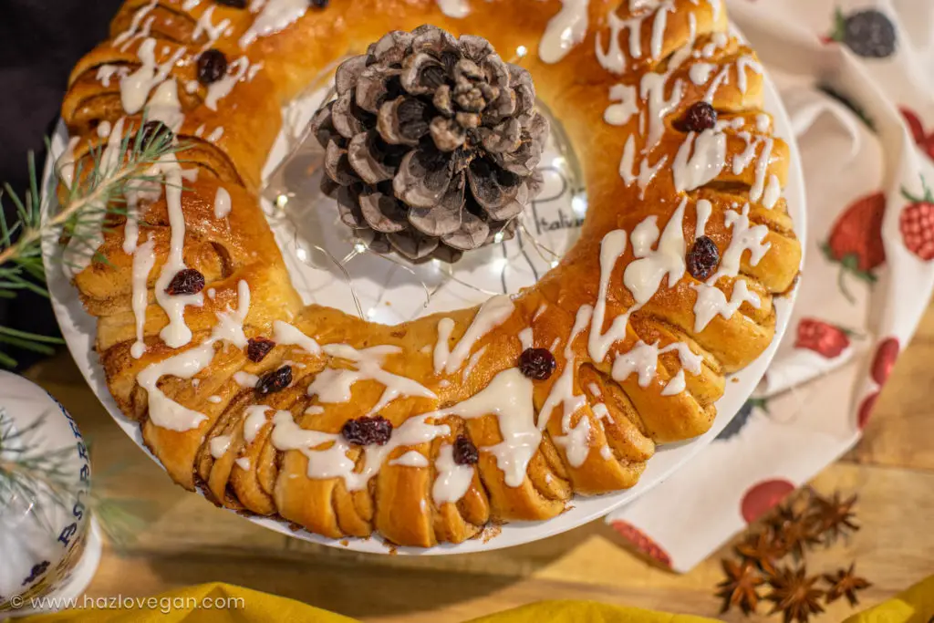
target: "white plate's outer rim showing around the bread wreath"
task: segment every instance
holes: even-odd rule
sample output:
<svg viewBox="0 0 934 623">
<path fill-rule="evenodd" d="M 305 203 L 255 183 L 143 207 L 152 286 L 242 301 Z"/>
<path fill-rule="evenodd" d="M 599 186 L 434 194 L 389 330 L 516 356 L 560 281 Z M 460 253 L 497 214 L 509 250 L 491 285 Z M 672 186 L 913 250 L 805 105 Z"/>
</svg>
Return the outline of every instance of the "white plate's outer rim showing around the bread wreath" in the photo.
<svg viewBox="0 0 934 623">
<path fill-rule="evenodd" d="M 742 38 L 742 34 L 736 29 L 735 25 L 731 24 L 731 31 Z M 802 243 L 800 265 L 803 266 L 804 250 L 807 247 L 805 244 L 807 241 L 807 202 L 803 169 L 800 161 L 800 150 L 785 105 L 781 100 L 770 72 L 766 68 L 763 68 L 763 91 L 765 101 L 763 109 L 771 114 L 773 119 L 773 134 L 785 140 L 789 149 L 790 166 L 788 180 L 785 186 L 785 201 L 788 204 L 788 212 L 792 215 L 793 231 Z M 64 150 L 65 143 L 67 143 L 67 130 L 64 127 L 64 120 L 60 118 L 52 134 L 50 150 L 46 156 L 46 162 L 42 172 L 43 221 L 49 217 L 52 207 L 57 205 L 57 201 L 55 201 L 57 182 L 52 175 L 52 171 L 56 158 Z M 792 193 L 790 193 L 789 190 L 794 190 L 794 196 L 791 196 Z M 76 362 L 76 365 L 78 365 L 81 375 L 92 389 L 98 401 L 104 406 L 108 415 L 114 419 L 117 425 L 120 426 L 120 429 L 130 437 L 134 444 L 142 449 L 151 460 L 155 461 L 164 472 L 165 467 L 162 462 L 149 451 L 149 448 L 143 442 L 142 432 L 140 431 L 138 422 L 126 418 L 122 412 L 120 412 L 120 408 L 117 406 L 116 401 L 114 401 L 113 396 L 106 387 L 104 370 L 97 358 L 92 355 L 92 348 L 89 348 L 89 346 L 93 346 L 93 340 L 96 337 L 96 321 L 84 310 L 78 299 L 78 290 L 65 278 L 61 266 L 53 262 L 53 259 L 60 253 L 61 249 L 59 248 L 57 237 L 51 235 L 45 236 L 42 240 L 42 260 L 48 279 L 50 303 L 52 304 L 56 321 L 59 323 L 59 327 L 62 330 L 68 350 Z M 802 277 L 799 276 L 794 288 L 788 293 L 781 297 L 774 298 L 776 326 L 771 344 L 755 361 L 743 368 L 742 371 L 736 373 L 736 375 L 729 375 L 727 377 L 727 388 L 724 392 L 724 396 L 716 403 L 717 415 L 711 429 L 698 437 L 684 442 L 658 446 L 655 455 L 646 462 L 644 473 L 641 475 L 639 482 L 632 488 L 622 489 L 600 496 L 583 497 L 575 494 L 569 507 L 557 517 L 542 521 L 509 522 L 503 524 L 501 527 L 497 527 L 499 532 L 494 536 L 485 537 L 484 532 L 488 530 L 485 529 L 481 531 L 477 537 L 468 539 L 460 544 L 438 544 L 426 548 L 391 545 L 377 534 L 366 539 L 355 537 L 347 537 L 347 539 L 343 540 L 330 539 L 304 530 L 293 531 L 290 528 L 289 522 L 284 519 L 260 516 L 242 517 L 263 528 L 318 545 L 327 545 L 337 549 L 366 553 L 396 553 L 415 556 L 466 554 L 492 551 L 515 545 L 525 545 L 562 532 L 571 531 L 595 519 L 605 517 L 619 507 L 632 503 L 644 496 L 645 493 L 664 482 L 669 476 L 674 474 L 674 472 L 683 469 L 704 447 L 711 444 L 716 435 L 729 424 L 729 421 L 733 417 L 735 417 L 745 400 L 755 392 L 761 377 L 768 369 L 771 360 L 785 336 L 791 319 L 791 313 L 797 300 L 798 292 L 800 291 L 801 278 Z M 72 318 L 74 314 L 78 315 L 78 319 Z M 782 318 L 779 318 L 779 316 Z M 78 327 L 79 322 L 92 324 L 92 331 L 90 333 L 81 332 Z M 750 370 L 758 371 L 755 374 L 756 377 L 754 380 L 743 380 L 739 383 L 731 382 L 730 379 L 737 377 L 737 375 L 749 375 Z M 743 390 L 742 400 L 740 400 L 738 396 L 734 396 L 738 389 L 733 389 L 732 392 L 729 392 L 729 389 L 737 387 L 745 388 Z M 725 399 L 737 400 L 738 404 L 736 408 L 730 409 L 729 411 L 721 410 L 719 404 Z M 674 460 L 671 465 L 667 465 L 663 468 L 659 467 L 654 470 L 652 469 L 653 465 L 659 465 L 659 455 L 666 456 L 672 451 L 680 451 L 680 455 L 676 457 L 676 460 Z M 656 474 L 656 472 L 659 471 L 661 473 Z M 651 474 L 651 478 L 647 479 L 645 477 L 646 474 Z M 200 489 L 195 489 L 194 492 L 204 497 L 204 493 Z M 593 508 L 590 508 L 591 506 Z M 233 509 L 225 510 L 234 512 Z M 347 545 L 344 545 L 342 541 L 346 542 Z"/>
</svg>

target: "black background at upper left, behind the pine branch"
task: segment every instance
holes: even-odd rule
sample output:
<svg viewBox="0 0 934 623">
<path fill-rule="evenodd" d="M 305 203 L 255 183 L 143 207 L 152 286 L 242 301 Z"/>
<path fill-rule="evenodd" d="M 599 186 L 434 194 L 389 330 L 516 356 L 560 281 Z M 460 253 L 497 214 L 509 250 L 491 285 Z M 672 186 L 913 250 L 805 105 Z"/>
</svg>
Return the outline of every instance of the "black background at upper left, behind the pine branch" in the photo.
<svg viewBox="0 0 934 623">
<path fill-rule="evenodd" d="M 78 59 L 106 38 L 122 0 L 0 0 L 0 183 L 22 194 L 28 186 L 26 154 L 41 171 L 44 136 L 58 120 L 68 74 Z M 4 200 L 7 217 L 12 207 Z M 49 302 L 33 294 L 0 299 L 0 326 L 57 334 Z M 20 367 L 36 360 L 10 350 Z"/>
</svg>

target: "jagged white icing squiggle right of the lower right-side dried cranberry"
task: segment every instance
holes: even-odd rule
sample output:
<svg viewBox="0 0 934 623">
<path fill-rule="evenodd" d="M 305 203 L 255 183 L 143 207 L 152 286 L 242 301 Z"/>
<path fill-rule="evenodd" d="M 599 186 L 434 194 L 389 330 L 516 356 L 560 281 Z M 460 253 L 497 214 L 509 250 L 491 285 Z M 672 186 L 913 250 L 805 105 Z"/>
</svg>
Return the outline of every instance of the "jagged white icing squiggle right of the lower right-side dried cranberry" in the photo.
<svg viewBox="0 0 934 623">
<path fill-rule="evenodd" d="M 724 220 L 733 231 L 729 247 L 720 258 L 720 267 L 705 283 L 691 284 L 691 288 L 697 290 L 698 293 L 697 301 L 694 303 L 695 333 L 701 333 L 717 315 L 729 320 L 743 303 L 748 302 L 754 307 L 760 304 L 758 295 L 749 291 L 745 279 L 737 279 L 733 282 L 733 291 L 729 300 L 722 290 L 716 288 L 716 282 L 720 277 L 739 275 L 740 261 L 746 250 L 750 252 L 750 264 L 755 266 L 762 260 L 771 248 L 771 243 L 763 243 L 766 235 L 769 234 L 769 228 L 765 225 L 750 225 L 749 204 L 743 206 L 742 213 L 729 210 Z"/>
</svg>

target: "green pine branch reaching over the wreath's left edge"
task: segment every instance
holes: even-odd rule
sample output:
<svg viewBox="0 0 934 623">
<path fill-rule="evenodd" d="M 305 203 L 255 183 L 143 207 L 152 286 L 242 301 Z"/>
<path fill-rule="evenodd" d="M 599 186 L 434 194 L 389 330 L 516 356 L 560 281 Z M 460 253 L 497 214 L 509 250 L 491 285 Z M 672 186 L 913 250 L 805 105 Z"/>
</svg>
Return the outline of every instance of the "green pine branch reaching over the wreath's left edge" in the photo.
<svg viewBox="0 0 934 623">
<path fill-rule="evenodd" d="M 35 156 L 29 153 L 29 188 L 24 196 L 9 184 L 0 189 L 0 299 L 15 298 L 21 291 L 49 297 L 42 263 L 42 241 L 47 236 L 64 235 L 69 245 L 86 250 L 95 261 L 103 261 L 95 254 L 95 236 L 106 231 L 106 222 L 112 217 L 131 218 L 125 207 L 126 193 L 164 185 L 155 165 L 185 149 L 174 144 L 171 133 L 163 127 L 161 131 L 147 133 L 145 121 L 144 117 L 135 132 L 124 135 L 117 149 L 92 149 L 87 170 L 83 160 L 74 164 L 73 184 L 60 197 L 60 210 L 45 222 Z M 50 145 L 48 140 L 46 144 Z M 51 153 L 51 149 L 48 151 Z M 15 208 L 12 219 L 7 219 L 4 213 L 5 194 Z M 61 343 L 59 338 L 0 327 L 0 346 L 45 354 L 51 352 L 50 344 Z M 0 366 L 15 365 L 12 357 L 0 351 Z"/>
</svg>

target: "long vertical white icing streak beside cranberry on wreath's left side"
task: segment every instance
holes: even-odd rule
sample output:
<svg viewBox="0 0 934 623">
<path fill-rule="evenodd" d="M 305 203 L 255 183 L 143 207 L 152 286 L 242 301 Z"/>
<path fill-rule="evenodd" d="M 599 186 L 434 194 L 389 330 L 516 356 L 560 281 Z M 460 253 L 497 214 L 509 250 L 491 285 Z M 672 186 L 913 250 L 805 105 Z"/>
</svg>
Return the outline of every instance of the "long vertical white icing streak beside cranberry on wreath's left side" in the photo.
<svg viewBox="0 0 934 623">
<path fill-rule="evenodd" d="M 169 322 L 159 336 L 167 347 L 183 347 L 191 342 L 191 329 L 185 324 L 185 307 L 191 305 L 200 307 L 205 304 L 205 295 L 197 294 L 168 294 L 165 289 L 179 271 L 188 266 L 183 258 L 185 247 L 185 214 L 181 207 L 181 167 L 175 154 L 167 154 L 160 161 L 160 168 L 165 177 L 165 205 L 168 208 L 169 226 L 172 234 L 169 243 L 168 257 L 165 259 L 163 270 L 156 280 L 156 301 L 163 308 Z"/>
</svg>

